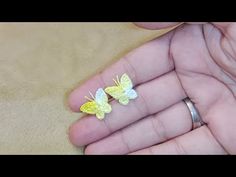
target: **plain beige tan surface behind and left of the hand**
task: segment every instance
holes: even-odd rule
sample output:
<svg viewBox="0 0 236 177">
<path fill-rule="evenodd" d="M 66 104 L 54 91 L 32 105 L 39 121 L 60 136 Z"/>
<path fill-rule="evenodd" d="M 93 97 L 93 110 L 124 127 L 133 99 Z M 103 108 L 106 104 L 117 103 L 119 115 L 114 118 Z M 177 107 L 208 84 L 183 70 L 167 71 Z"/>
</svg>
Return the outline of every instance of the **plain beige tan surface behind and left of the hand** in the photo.
<svg viewBox="0 0 236 177">
<path fill-rule="evenodd" d="M 132 23 L 0 23 L 0 154 L 82 154 L 70 91 L 166 31 Z M 148 57 L 148 56 L 147 56 Z"/>
</svg>

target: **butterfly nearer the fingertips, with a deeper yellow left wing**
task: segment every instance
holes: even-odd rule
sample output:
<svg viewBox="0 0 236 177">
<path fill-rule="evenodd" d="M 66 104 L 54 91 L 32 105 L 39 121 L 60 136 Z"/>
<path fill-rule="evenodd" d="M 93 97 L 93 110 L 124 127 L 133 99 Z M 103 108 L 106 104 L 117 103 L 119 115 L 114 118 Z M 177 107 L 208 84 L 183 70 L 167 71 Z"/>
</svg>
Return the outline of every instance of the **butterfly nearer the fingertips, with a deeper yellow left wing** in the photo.
<svg viewBox="0 0 236 177">
<path fill-rule="evenodd" d="M 90 93 L 90 92 L 89 92 Z M 108 97 L 102 88 L 99 88 L 96 91 L 95 98 L 90 93 L 93 99 L 85 97 L 89 101 L 84 103 L 80 110 L 87 114 L 95 114 L 96 117 L 100 120 L 104 119 L 105 113 L 110 113 L 112 108 L 111 105 L 108 104 Z"/>
</svg>

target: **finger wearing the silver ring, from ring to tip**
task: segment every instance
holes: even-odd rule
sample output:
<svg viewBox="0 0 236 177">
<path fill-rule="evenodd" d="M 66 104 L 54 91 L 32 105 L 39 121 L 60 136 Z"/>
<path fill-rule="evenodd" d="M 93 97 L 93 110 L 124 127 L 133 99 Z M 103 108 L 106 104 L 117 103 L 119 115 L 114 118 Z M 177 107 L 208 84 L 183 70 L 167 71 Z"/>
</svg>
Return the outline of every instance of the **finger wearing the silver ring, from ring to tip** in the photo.
<svg viewBox="0 0 236 177">
<path fill-rule="evenodd" d="M 85 154 L 128 154 L 182 135 L 191 126 L 189 110 L 181 101 L 88 145 Z"/>
</svg>

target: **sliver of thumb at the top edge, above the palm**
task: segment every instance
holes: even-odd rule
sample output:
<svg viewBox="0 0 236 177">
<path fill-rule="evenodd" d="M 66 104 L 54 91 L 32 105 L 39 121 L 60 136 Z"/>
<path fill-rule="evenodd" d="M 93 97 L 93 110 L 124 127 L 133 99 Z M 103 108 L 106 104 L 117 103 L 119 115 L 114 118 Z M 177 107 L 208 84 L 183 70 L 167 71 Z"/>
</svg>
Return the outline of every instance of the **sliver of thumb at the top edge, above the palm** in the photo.
<svg viewBox="0 0 236 177">
<path fill-rule="evenodd" d="M 163 28 L 169 28 L 174 27 L 178 25 L 178 22 L 137 22 L 134 23 L 135 25 L 147 28 L 147 29 L 163 29 Z"/>
</svg>

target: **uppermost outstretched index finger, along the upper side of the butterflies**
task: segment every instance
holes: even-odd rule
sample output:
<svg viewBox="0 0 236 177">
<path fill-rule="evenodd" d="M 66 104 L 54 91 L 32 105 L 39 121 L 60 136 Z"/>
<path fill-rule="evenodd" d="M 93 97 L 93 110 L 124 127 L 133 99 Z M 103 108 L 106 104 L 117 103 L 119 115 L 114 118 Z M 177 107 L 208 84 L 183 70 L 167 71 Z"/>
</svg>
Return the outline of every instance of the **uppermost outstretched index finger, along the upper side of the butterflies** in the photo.
<svg viewBox="0 0 236 177">
<path fill-rule="evenodd" d="M 70 108 L 79 111 L 80 106 L 86 102 L 84 96 L 88 95 L 89 91 L 94 94 L 100 87 L 114 85 L 112 79 L 116 78 L 116 75 L 127 73 L 134 85 L 138 85 L 173 70 L 173 61 L 169 56 L 170 37 L 171 33 L 135 49 L 75 89 L 69 96 Z"/>
</svg>

